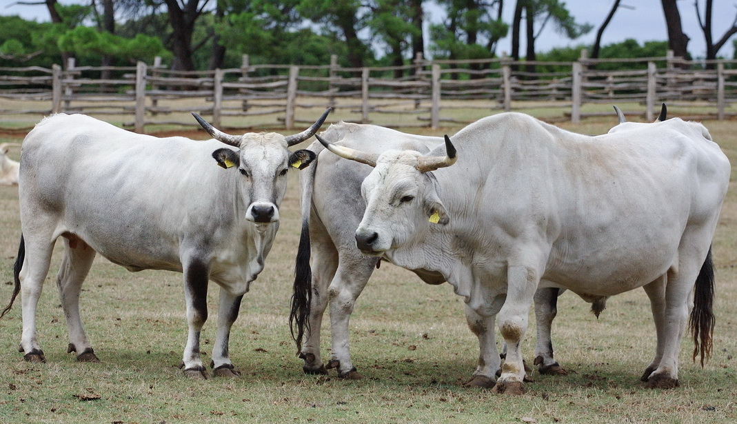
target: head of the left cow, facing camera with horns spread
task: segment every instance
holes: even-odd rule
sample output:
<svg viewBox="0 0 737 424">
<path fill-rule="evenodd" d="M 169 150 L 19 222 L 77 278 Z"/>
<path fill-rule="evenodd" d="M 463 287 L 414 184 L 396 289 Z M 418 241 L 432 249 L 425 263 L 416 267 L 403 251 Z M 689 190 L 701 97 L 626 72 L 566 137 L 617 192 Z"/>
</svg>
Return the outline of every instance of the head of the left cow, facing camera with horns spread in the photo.
<svg viewBox="0 0 737 424">
<path fill-rule="evenodd" d="M 232 173 L 240 173 L 240 186 L 244 198 L 250 199 L 245 219 L 254 223 L 274 223 L 279 221 L 279 204 L 287 190 L 287 170 L 289 167 L 303 169 L 315 159 L 310 150 L 290 153 L 287 147 L 304 142 L 314 135 L 327 115 L 325 113 L 310 128 L 292 136 L 279 133 L 245 133 L 231 136 L 205 122 L 198 114 L 192 113 L 197 121 L 214 139 L 226 145 L 212 152 L 212 157 L 220 167 Z"/>
</svg>

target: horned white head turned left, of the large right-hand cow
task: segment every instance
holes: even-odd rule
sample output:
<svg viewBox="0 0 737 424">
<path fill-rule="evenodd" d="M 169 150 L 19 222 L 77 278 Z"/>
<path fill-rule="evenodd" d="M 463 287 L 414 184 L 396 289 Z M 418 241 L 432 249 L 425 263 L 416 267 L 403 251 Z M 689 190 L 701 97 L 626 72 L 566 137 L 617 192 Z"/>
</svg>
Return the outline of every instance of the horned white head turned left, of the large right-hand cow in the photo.
<svg viewBox="0 0 737 424">
<path fill-rule="evenodd" d="M 412 150 L 366 153 L 315 136 L 338 156 L 374 167 L 361 185 L 366 212 L 356 230 L 356 246 L 364 254 L 380 256 L 407 243 L 425 225 L 448 223 L 430 172 L 455 163 L 455 147 L 448 136 L 446 156 L 422 156 Z"/>
</svg>

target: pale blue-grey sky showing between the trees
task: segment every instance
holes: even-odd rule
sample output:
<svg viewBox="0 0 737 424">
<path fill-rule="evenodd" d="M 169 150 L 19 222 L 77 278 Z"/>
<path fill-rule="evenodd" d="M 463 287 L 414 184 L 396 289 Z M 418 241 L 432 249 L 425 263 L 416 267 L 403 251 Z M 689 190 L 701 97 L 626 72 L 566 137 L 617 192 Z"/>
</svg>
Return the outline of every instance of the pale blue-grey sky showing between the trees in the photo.
<svg viewBox="0 0 737 424">
<path fill-rule="evenodd" d="M 61 4 L 79 3 L 75 0 L 60 0 Z M 570 13 L 579 23 L 592 24 L 594 29 L 587 35 L 569 40 L 565 36 L 555 32 L 553 25 L 548 23 L 536 42 L 538 52 L 545 52 L 553 47 L 577 46 L 579 44 L 593 44 L 596 30 L 604 22 L 613 0 L 565 0 Z M 704 4 L 704 0 L 698 0 Z M 28 6 L 15 4 L 16 0 L 0 0 L 0 15 L 21 15 L 23 18 L 35 19 L 36 21 L 48 21 L 49 12 L 45 6 Z M 722 38 L 724 32 L 729 29 L 737 15 L 737 1 L 716 0 L 713 2 L 713 25 L 712 35 L 716 41 Z M 514 1 L 505 1 L 506 21 L 511 21 L 514 11 Z M 694 9 L 694 0 L 679 0 L 678 6 L 681 14 L 683 32 L 691 38 L 688 43 L 688 51 L 694 58 L 705 56 L 704 35 L 699 28 Z M 441 21 L 444 17 L 442 10 L 433 4 L 428 4 L 425 10 L 431 21 Z M 664 41 L 667 39 L 666 21 L 663 17 L 663 6 L 660 0 L 622 0 L 621 5 L 609 23 L 602 45 L 617 43 L 627 38 L 635 38 L 640 41 Z M 733 37 L 733 40 L 737 37 Z M 1 41 L 0 41 L 1 43 Z M 500 41 L 497 53 L 509 52 L 511 38 L 507 37 Z M 521 46 L 524 51 L 524 44 Z M 719 55 L 732 58 L 732 40 L 719 50 Z"/>
</svg>

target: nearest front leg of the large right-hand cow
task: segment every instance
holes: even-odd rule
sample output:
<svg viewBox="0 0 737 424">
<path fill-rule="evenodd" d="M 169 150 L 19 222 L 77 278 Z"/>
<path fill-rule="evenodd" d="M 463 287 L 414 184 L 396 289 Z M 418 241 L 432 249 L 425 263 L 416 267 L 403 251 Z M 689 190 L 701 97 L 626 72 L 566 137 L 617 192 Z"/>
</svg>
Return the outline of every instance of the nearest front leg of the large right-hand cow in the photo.
<svg viewBox="0 0 737 424">
<path fill-rule="evenodd" d="M 510 265 L 507 271 L 507 294 L 499 311 L 499 330 L 506 344 L 502 374 L 495 393 L 522 395 L 525 392 L 525 364 L 521 342 L 528 325 L 528 313 L 539 283 L 539 271 L 523 265 Z"/>
</svg>

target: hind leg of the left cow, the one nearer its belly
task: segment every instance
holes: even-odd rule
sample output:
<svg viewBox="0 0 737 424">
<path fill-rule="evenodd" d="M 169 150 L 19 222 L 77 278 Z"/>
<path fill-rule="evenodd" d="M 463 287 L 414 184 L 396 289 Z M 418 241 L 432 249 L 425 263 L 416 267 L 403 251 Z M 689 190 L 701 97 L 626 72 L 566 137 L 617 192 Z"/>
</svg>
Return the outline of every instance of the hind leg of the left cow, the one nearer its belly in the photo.
<svg viewBox="0 0 737 424">
<path fill-rule="evenodd" d="M 77 353 L 77 361 L 99 362 L 87 340 L 80 318 L 80 291 L 92 266 L 96 252 L 75 236 L 64 239 L 64 257 L 57 274 L 61 307 L 69 330 L 68 353 Z"/>
</svg>

